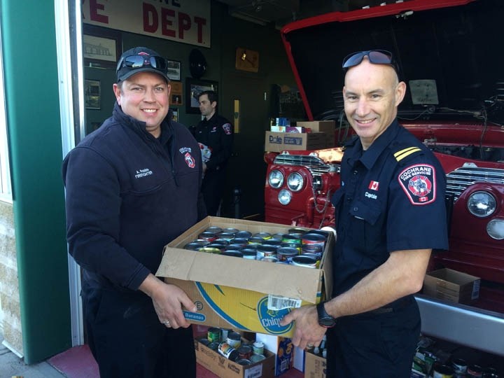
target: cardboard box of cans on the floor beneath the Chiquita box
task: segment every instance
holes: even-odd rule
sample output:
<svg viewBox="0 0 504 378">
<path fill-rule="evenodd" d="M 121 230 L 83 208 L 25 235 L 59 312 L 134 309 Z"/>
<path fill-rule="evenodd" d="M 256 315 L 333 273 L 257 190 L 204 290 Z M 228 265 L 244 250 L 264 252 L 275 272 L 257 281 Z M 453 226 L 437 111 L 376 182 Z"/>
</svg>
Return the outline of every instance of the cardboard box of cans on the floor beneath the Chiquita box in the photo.
<svg viewBox="0 0 504 378">
<path fill-rule="evenodd" d="M 195 339 L 197 363 L 220 378 L 274 378 L 274 353 L 265 349 L 265 359 L 252 365 L 239 365 Z"/>
</svg>

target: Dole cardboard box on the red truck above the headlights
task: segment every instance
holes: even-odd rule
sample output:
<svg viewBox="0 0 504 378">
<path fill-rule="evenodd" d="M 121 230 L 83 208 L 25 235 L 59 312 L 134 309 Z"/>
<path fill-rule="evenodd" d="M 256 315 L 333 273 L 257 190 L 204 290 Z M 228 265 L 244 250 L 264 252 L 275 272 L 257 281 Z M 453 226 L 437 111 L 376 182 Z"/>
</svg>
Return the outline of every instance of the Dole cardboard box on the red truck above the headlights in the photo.
<svg viewBox="0 0 504 378">
<path fill-rule="evenodd" d="M 295 133 L 267 131 L 265 137 L 265 151 L 320 150 L 327 148 L 327 139 L 328 136 L 324 132 Z"/>
</svg>

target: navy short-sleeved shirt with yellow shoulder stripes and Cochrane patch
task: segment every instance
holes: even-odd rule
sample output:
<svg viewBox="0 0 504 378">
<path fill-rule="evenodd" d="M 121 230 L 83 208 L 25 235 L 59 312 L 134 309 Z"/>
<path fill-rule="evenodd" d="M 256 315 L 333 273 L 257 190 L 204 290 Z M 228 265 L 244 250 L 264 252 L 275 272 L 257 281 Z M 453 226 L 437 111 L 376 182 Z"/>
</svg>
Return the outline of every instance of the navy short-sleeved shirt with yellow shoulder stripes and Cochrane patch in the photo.
<svg viewBox="0 0 504 378">
<path fill-rule="evenodd" d="M 446 180 L 437 158 L 397 120 L 363 151 L 347 146 L 337 211 L 333 296 L 383 264 L 393 251 L 448 248 Z"/>
</svg>

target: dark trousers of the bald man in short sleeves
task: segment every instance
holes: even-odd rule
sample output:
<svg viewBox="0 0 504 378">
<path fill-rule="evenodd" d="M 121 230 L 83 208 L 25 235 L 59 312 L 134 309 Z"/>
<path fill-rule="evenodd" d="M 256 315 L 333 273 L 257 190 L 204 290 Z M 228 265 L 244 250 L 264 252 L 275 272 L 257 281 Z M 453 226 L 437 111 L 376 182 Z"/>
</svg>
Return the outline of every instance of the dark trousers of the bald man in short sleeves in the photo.
<svg viewBox="0 0 504 378">
<path fill-rule="evenodd" d="M 338 318 L 327 332 L 327 378 L 409 378 L 419 335 L 413 297 L 393 311 Z"/>
</svg>

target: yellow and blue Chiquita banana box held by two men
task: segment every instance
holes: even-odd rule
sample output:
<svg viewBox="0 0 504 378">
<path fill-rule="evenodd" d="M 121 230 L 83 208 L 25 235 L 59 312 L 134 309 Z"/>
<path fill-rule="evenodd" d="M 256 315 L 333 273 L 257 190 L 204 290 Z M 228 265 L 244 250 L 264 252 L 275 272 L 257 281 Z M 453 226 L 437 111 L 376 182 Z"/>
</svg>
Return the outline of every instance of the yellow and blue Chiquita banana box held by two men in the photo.
<svg viewBox="0 0 504 378">
<path fill-rule="evenodd" d="M 334 236 L 328 234 L 318 268 L 183 249 L 214 226 L 252 234 L 286 234 L 292 228 L 209 216 L 165 246 L 156 275 L 181 287 L 195 302 L 196 312 L 184 311 L 191 323 L 291 337 L 293 325 L 279 325 L 281 318 L 293 307 L 320 302 L 321 295 L 332 290 L 332 253 L 328 251 Z"/>
</svg>

